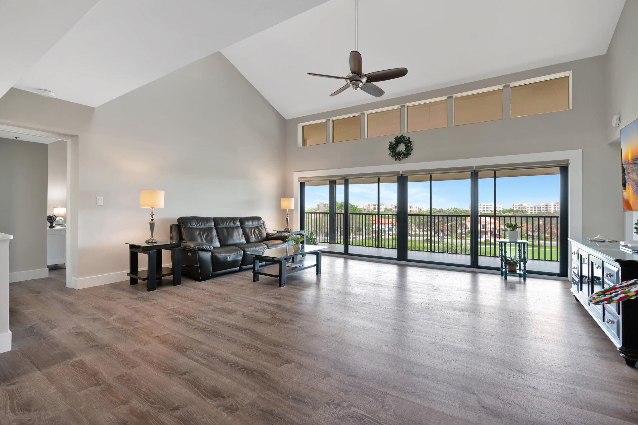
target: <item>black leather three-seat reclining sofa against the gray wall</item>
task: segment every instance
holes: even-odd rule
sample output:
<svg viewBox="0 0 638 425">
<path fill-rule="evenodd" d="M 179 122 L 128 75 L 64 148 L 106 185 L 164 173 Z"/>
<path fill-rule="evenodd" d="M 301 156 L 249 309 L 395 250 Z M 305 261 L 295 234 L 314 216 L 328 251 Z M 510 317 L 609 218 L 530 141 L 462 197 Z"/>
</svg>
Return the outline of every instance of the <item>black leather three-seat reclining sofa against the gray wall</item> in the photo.
<svg viewBox="0 0 638 425">
<path fill-rule="evenodd" d="M 187 241 L 182 275 L 199 281 L 250 268 L 256 253 L 289 245 L 288 233 L 269 233 L 262 217 L 179 217 L 170 238 Z"/>
</svg>

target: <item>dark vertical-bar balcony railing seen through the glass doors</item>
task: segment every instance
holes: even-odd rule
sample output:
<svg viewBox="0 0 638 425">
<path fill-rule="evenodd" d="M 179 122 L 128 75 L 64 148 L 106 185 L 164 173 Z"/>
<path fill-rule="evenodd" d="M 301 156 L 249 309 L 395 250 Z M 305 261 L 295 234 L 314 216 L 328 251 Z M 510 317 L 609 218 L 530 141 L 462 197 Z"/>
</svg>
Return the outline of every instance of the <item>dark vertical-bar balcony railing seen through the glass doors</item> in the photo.
<svg viewBox="0 0 638 425">
<path fill-rule="evenodd" d="M 330 237 L 327 212 L 306 212 L 305 227 L 323 243 L 343 244 L 343 213 L 334 213 L 335 230 Z M 496 240 L 505 238 L 505 223 L 521 226 L 519 238 L 530 241 L 528 258 L 558 261 L 560 228 L 558 215 L 480 215 L 479 256 L 498 257 Z M 396 249 L 396 213 L 349 213 L 348 244 Z M 408 250 L 470 254 L 470 215 L 408 214 Z"/>
</svg>

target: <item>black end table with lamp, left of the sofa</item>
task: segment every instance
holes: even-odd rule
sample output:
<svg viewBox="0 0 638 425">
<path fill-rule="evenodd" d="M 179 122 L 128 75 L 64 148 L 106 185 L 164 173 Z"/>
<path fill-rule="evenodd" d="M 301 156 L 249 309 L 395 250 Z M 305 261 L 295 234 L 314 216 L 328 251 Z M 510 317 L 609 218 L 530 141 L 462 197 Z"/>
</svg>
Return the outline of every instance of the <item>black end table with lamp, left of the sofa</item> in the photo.
<svg viewBox="0 0 638 425">
<path fill-rule="evenodd" d="M 129 283 L 136 285 L 138 280 L 147 281 L 147 291 L 155 291 L 156 281 L 161 280 L 165 276 L 173 276 L 173 285 L 179 285 L 182 282 L 182 272 L 180 264 L 182 262 L 181 244 L 184 241 L 164 240 L 158 243 L 146 242 L 126 242 L 129 252 Z M 165 249 L 175 253 L 175 261 L 173 268 L 162 267 L 161 251 Z M 147 270 L 137 270 L 137 254 L 145 254 L 148 257 Z"/>
</svg>

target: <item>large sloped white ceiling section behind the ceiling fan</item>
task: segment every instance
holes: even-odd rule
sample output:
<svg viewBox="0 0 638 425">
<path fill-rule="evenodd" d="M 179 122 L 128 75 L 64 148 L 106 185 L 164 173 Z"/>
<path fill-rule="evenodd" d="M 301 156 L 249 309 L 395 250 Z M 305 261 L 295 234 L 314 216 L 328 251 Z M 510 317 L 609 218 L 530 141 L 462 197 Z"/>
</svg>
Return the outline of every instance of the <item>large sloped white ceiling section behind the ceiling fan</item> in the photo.
<svg viewBox="0 0 638 425">
<path fill-rule="evenodd" d="M 605 54 L 625 0 L 360 0 L 364 72 L 406 67 L 383 98 Z M 330 0 L 224 48 L 286 119 L 377 101 L 329 94 L 354 49 L 354 0 Z M 568 71 L 568 69 L 565 69 Z"/>
</svg>

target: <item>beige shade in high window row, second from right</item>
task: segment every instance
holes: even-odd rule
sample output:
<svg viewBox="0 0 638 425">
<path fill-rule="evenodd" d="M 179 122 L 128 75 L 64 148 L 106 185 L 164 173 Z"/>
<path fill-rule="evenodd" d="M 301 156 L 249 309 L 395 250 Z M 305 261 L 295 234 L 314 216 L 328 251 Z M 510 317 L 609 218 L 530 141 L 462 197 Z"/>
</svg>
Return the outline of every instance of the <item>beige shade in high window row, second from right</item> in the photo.
<svg viewBox="0 0 638 425">
<path fill-rule="evenodd" d="M 503 89 L 454 97 L 454 125 L 503 119 Z"/>
</svg>

